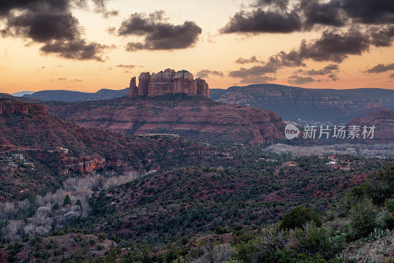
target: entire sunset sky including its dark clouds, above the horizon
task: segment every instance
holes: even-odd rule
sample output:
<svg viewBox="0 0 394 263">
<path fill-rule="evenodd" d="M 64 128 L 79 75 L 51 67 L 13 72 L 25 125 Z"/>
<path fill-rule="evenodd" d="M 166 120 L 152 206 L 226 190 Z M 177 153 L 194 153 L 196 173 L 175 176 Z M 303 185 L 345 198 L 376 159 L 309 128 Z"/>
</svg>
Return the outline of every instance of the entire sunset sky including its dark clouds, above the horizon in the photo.
<svg viewBox="0 0 394 263">
<path fill-rule="evenodd" d="M 2 0 L 0 92 L 124 89 L 186 69 L 210 88 L 394 88 L 393 0 Z"/>
</svg>

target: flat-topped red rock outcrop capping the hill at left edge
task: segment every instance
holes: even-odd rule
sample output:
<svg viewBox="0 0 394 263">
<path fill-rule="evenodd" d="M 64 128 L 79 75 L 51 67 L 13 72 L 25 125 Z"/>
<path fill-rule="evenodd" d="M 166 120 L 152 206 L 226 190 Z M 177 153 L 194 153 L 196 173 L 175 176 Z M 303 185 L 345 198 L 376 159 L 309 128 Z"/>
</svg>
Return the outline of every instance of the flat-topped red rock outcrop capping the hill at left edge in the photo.
<svg viewBox="0 0 394 263">
<path fill-rule="evenodd" d="M 0 99 L 0 114 L 46 114 L 46 107 L 13 99 Z"/>
</svg>

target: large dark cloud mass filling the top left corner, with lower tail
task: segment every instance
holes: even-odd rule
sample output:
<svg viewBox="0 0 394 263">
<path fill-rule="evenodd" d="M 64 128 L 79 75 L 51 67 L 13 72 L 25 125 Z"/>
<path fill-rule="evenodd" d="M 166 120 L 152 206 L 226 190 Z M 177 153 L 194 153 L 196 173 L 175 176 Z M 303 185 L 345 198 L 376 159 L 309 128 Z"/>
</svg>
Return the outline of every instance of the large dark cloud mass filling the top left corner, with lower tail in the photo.
<svg viewBox="0 0 394 263">
<path fill-rule="evenodd" d="M 23 0 L 1 1 L 0 18 L 3 37 L 19 37 L 32 43 L 41 43 L 41 54 L 74 60 L 102 59 L 106 46 L 89 42 L 82 37 L 84 28 L 79 25 L 71 10 L 87 8 L 93 2 L 96 12 L 105 11 L 107 0 Z"/>
</svg>

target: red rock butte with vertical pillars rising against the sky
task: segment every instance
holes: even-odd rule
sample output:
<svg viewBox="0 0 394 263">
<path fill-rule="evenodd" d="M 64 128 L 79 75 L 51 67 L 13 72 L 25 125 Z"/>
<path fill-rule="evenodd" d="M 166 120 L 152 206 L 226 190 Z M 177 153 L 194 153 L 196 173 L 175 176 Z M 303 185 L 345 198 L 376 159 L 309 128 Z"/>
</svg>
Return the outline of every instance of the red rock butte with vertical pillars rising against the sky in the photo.
<svg viewBox="0 0 394 263">
<path fill-rule="evenodd" d="M 201 95 L 209 98 L 209 86 L 201 78 L 194 79 L 193 74 L 187 70 L 175 72 L 167 68 L 159 73 L 142 72 L 138 77 L 131 78 L 129 97 L 160 96 L 165 94 L 186 93 L 188 95 Z"/>
</svg>

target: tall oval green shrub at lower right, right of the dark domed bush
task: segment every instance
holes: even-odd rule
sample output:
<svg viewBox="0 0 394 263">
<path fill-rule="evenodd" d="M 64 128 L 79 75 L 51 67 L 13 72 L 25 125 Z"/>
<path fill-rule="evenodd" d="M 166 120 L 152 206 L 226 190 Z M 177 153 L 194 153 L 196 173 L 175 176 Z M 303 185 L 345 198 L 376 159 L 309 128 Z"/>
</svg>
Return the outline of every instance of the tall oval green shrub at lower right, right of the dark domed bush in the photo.
<svg viewBox="0 0 394 263">
<path fill-rule="evenodd" d="M 372 232 L 376 226 L 378 209 L 370 199 L 362 199 L 350 210 L 350 227 L 356 237 L 362 237 Z"/>
</svg>

